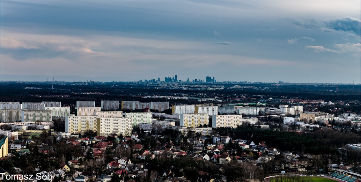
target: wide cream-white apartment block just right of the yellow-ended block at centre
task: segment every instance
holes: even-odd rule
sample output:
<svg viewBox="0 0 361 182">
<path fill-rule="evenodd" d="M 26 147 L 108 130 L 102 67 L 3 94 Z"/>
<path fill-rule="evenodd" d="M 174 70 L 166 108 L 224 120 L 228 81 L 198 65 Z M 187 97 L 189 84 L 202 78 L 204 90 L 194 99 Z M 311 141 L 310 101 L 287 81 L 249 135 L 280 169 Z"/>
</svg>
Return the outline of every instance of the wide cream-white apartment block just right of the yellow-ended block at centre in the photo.
<svg viewBox="0 0 361 182">
<path fill-rule="evenodd" d="M 242 115 L 215 115 L 212 116 L 212 127 L 232 127 L 242 126 Z"/>
</svg>

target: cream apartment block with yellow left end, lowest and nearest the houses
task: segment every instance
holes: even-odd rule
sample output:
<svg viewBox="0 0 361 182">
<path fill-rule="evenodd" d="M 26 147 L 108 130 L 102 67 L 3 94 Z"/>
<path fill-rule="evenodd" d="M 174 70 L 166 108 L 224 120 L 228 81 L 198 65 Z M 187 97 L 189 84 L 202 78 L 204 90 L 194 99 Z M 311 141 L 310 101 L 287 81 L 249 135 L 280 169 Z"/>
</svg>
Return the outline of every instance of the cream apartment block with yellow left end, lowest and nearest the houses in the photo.
<svg viewBox="0 0 361 182">
<path fill-rule="evenodd" d="M 99 136 L 108 136 L 110 133 L 116 133 L 123 136 L 131 135 L 131 118 L 97 118 L 96 132 Z"/>
</svg>

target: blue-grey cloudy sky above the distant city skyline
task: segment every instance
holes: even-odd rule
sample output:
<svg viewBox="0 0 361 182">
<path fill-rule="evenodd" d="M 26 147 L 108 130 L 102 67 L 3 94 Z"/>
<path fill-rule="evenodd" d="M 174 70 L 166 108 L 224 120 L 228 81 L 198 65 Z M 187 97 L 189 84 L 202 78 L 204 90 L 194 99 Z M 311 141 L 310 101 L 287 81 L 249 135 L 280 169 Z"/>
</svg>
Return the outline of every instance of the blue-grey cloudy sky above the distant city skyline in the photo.
<svg viewBox="0 0 361 182">
<path fill-rule="evenodd" d="M 0 81 L 361 83 L 360 0 L 1 0 Z"/>
</svg>

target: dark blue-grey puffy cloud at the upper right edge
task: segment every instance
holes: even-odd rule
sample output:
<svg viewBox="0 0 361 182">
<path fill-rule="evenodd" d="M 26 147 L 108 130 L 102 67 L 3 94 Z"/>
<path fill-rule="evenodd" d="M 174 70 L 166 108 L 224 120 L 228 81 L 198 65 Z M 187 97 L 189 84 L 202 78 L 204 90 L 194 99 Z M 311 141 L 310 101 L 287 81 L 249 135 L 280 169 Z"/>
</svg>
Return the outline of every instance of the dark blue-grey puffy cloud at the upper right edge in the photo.
<svg viewBox="0 0 361 182">
<path fill-rule="evenodd" d="M 353 17 L 344 17 L 327 21 L 326 27 L 331 30 L 353 32 L 356 35 L 361 35 L 361 20 Z"/>
</svg>

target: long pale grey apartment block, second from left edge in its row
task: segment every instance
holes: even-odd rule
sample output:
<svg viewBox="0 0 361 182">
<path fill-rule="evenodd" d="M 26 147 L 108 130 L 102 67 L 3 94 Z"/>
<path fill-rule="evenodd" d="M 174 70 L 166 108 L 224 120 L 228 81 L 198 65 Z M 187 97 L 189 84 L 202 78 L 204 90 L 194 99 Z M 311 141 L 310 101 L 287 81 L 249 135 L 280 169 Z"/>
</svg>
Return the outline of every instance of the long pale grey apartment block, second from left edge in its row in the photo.
<svg viewBox="0 0 361 182">
<path fill-rule="evenodd" d="M 21 122 L 52 121 L 51 110 L 22 110 Z"/>
</svg>

